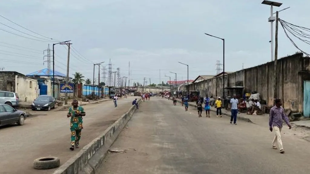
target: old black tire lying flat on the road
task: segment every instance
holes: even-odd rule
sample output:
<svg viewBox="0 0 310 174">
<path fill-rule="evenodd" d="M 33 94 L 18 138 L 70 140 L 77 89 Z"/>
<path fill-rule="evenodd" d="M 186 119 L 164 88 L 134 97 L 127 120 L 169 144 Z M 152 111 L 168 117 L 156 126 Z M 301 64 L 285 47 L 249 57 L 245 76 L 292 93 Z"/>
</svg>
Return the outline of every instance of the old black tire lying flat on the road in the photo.
<svg viewBox="0 0 310 174">
<path fill-rule="evenodd" d="M 51 169 L 60 166 L 60 159 L 58 157 L 42 157 L 33 161 L 33 168 L 35 169 Z"/>
</svg>

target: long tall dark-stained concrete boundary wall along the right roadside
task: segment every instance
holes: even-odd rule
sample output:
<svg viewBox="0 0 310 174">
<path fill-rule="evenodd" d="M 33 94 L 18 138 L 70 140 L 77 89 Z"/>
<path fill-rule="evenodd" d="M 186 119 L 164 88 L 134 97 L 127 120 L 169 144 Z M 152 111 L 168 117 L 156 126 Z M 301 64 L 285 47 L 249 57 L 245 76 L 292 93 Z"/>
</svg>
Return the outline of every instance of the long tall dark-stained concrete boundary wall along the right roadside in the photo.
<svg viewBox="0 0 310 174">
<path fill-rule="evenodd" d="M 274 61 L 225 75 L 225 86 L 244 86 L 245 92 L 257 91 L 267 104 L 273 105 Z M 190 84 L 201 95 L 222 96 L 223 76 Z M 310 58 L 302 53 L 278 59 L 277 98 L 284 109 L 303 112 L 303 81 L 310 80 Z M 183 86 L 182 86 L 183 87 Z M 183 87 L 186 90 L 186 85 Z M 227 93 L 225 93 L 227 94 Z"/>
</svg>

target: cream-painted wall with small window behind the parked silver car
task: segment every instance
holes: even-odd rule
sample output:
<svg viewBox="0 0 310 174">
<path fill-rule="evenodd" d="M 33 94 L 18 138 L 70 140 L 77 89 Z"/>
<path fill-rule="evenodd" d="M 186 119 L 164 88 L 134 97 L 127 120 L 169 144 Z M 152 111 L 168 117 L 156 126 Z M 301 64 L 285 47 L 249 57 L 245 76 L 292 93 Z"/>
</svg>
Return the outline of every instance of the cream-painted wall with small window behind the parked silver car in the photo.
<svg viewBox="0 0 310 174">
<path fill-rule="evenodd" d="M 15 93 L 20 101 L 33 101 L 38 96 L 38 81 L 22 75 L 15 75 Z"/>
</svg>

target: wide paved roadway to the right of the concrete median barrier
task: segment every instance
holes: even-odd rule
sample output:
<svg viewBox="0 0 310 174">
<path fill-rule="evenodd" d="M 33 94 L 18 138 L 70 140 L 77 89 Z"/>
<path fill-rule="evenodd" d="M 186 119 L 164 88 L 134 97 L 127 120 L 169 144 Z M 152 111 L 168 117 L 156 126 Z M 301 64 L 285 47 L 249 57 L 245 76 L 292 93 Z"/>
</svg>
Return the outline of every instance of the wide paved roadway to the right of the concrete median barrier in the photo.
<svg viewBox="0 0 310 174">
<path fill-rule="evenodd" d="M 308 174 L 309 142 L 283 128 L 286 154 L 273 150 L 268 126 L 228 117 L 198 118 L 166 99 L 143 102 L 111 149 L 98 174 Z"/>
</svg>

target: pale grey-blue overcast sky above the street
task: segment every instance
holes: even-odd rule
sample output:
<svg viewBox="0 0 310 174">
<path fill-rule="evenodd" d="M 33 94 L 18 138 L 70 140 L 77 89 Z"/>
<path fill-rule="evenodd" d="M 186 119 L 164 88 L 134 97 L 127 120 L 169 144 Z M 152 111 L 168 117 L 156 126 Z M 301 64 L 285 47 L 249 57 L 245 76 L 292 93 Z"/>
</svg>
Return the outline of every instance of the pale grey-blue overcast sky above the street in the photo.
<svg viewBox="0 0 310 174">
<path fill-rule="evenodd" d="M 242 63 L 247 68 L 270 61 L 270 6 L 262 5 L 261 2 L 7 0 L 0 1 L 0 15 L 43 36 L 61 41 L 72 40 L 72 46 L 82 55 L 78 56 L 77 51 L 77 54 L 71 51 L 70 76 L 78 71 L 92 79 L 92 62 L 105 61 L 108 64 L 111 59 L 113 71 L 119 67 L 121 76 L 128 76 L 130 61 L 131 82 L 143 83 L 145 77 L 148 81 L 150 78 L 151 83 L 159 83 L 160 78 L 161 81 L 169 80 L 165 75 L 174 79 L 174 74 L 169 71 L 177 73 L 177 80 L 187 78 L 186 66 L 178 61 L 189 64 L 190 79 L 216 73 L 216 60 L 223 61 L 222 41 L 203 33 L 225 38 L 225 71 L 240 70 Z M 310 28 L 309 16 L 305 15 L 310 10 L 310 1 L 281 2 L 283 5 L 275 7 L 275 11 L 291 7 L 279 13 L 282 20 Z M 2 17 L 0 22 L 24 33 L 45 38 Z M 52 42 L 20 37 L 38 39 L 3 24 L 0 24 L 0 67 L 5 67 L 5 71 L 23 74 L 46 68 L 47 64 L 43 65 L 43 50 Z M 297 43 L 304 51 L 309 51 L 307 45 Z M 279 25 L 279 57 L 296 51 Z M 56 45 L 55 53 L 55 70 L 66 74 L 65 46 Z M 98 77 L 98 67 L 95 76 Z"/>
</svg>

